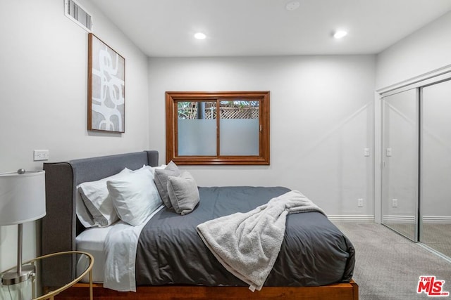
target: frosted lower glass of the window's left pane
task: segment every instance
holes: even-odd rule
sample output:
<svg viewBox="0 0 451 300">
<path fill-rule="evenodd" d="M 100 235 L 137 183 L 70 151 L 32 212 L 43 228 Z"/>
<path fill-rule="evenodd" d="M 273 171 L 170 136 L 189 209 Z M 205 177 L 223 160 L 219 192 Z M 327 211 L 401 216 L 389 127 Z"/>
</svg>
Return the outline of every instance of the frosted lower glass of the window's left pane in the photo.
<svg viewBox="0 0 451 300">
<path fill-rule="evenodd" d="M 216 119 L 178 119 L 178 155 L 216 155 Z"/>
</svg>

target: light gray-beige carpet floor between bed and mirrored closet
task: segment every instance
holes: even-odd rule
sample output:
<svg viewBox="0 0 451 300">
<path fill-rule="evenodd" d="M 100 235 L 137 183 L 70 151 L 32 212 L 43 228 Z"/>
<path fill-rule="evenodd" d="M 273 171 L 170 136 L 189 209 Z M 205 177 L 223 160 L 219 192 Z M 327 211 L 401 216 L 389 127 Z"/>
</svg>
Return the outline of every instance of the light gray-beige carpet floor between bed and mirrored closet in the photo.
<svg viewBox="0 0 451 300">
<path fill-rule="evenodd" d="M 419 277 L 434 275 L 445 280 L 451 292 L 451 263 L 374 223 L 336 223 L 356 249 L 354 280 L 362 300 L 451 299 L 417 294 Z"/>
</svg>

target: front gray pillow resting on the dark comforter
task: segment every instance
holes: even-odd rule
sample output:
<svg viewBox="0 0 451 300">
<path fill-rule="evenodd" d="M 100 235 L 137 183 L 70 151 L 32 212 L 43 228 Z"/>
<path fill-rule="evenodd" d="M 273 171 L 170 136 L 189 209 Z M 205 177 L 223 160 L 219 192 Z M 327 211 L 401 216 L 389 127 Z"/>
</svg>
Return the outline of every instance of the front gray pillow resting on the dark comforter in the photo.
<svg viewBox="0 0 451 300">
<path fill-rule="evenodd" d="M 180 176 L 168 177 L 168 195 L 177 214 L 189 214 L 199 203 L 196 181 L 187 171 Z"/>
</svg>

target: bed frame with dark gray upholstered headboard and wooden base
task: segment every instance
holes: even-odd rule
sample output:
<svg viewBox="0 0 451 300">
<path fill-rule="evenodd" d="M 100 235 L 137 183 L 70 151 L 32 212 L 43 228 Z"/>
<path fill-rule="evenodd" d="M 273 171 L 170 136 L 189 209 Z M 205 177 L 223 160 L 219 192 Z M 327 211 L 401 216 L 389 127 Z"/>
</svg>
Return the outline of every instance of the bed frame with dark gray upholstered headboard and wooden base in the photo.
<svg viewBox="0 0 451 300">
<path fill-rule="evenodd" d="M 42 255 L 76 250 L 75 237 L 85 228 L 75 214 L 76 186 L 96 181 L 122 171 L 139 169 L 143 164 L 159 165 L 156 151 L 126 153 L 70 162 L 44 163 L 46 171 L 47 215 L 42 219 Z M 75 261 L 42 263 L 44 289 L 60 287 L 75 278 Z M 89 299 L 89 285 L 76 284 L 58 294 L 55 299 Z M 94 299 L 328 299 L 357 300 L 359 287 L 354 281 L 321 287 L 263 287 L 251 292 L 248 287 L 149 286 L 137 287 L 137 292 L 117 292 L 94 284 Z"/>
</svg>

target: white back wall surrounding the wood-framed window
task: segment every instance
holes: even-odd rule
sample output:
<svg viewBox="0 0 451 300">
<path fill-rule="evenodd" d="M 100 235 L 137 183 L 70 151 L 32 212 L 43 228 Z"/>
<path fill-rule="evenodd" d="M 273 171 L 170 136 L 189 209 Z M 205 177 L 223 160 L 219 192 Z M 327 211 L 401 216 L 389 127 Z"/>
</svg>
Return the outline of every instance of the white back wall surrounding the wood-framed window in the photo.
<svg viewBox="0 0 451 300">
<path fill-rule="evenodd" d="M 270 166 L 181 168 L 201 186 L 283 185 L 327 214 L 373 216 L 374 75 L 375 56 L 151 58 L 151 145 L 164 161 L 165 91 L 268 90 Z"/>
</svg>

